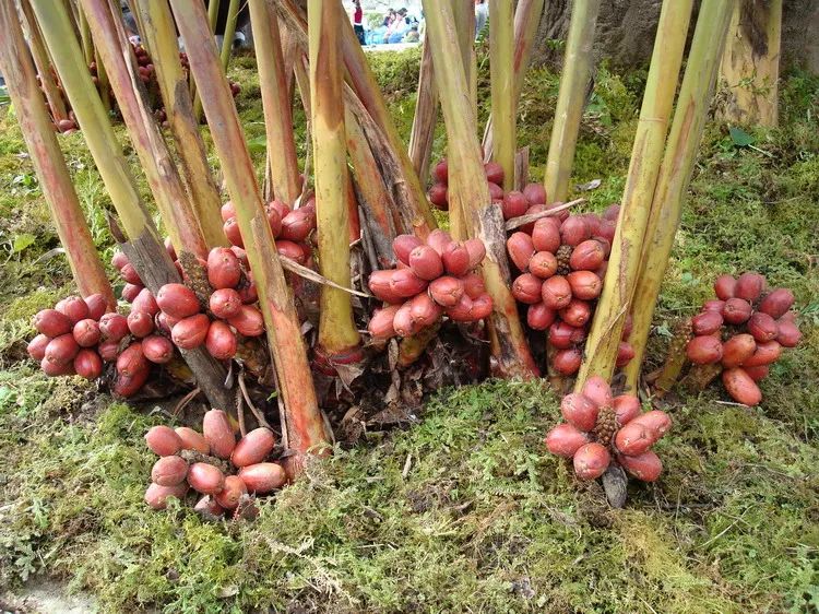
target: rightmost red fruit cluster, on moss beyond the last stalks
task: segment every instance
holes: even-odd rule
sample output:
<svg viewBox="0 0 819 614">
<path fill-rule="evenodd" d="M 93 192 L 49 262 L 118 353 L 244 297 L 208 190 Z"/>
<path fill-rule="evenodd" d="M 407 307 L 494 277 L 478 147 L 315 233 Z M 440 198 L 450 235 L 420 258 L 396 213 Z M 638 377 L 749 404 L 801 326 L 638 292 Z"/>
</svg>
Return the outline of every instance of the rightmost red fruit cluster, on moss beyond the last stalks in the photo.
<svg viewBox="0 0 819 614">
<path fill-rule="evenodd" d="M 759 273 L 719 276 L 716 298 L 691 318 L 695 336 L 686 347 L 693 364 L 719 364 L 725 390 L 745 405 L 762 400 L 757 382 L 768 376 L 783 347 L 795 347 L 802 339 L 796 312 L 790 311 L 794 294 L 784 287 L 765 292 L 765 285 Z"/>
</svg>

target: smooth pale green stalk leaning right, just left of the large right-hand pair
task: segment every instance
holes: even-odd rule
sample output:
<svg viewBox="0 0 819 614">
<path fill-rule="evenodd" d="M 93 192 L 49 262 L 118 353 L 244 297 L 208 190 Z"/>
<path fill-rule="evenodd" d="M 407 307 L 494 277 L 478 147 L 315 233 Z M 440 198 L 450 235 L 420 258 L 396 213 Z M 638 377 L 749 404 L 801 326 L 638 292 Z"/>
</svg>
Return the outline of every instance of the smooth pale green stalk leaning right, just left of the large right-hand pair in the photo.
<svg viewBox="0 0 819 614">
<path fill-rule="evenodd" d="M 575 0 L 555 107 L 544 185 L 550 202 L 569 196 L 569 178 L 592 70 L 592 43 L 601 0 Z"/>
</svg>

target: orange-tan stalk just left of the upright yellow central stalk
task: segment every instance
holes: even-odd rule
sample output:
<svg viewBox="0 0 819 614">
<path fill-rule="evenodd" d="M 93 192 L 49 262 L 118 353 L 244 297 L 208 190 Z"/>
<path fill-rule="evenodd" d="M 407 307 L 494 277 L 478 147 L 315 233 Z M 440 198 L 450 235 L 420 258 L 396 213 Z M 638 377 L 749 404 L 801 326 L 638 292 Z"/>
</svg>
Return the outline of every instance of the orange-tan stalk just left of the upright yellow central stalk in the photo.
<svg viewBox="0 0 819 614">
<path fill-rule="evenodd" d="M 301 190 L 278 19 L 272 0 L 250 0 L 250 22 L 259 63 L 273 193 L 293 205 Z"/>
</svg>

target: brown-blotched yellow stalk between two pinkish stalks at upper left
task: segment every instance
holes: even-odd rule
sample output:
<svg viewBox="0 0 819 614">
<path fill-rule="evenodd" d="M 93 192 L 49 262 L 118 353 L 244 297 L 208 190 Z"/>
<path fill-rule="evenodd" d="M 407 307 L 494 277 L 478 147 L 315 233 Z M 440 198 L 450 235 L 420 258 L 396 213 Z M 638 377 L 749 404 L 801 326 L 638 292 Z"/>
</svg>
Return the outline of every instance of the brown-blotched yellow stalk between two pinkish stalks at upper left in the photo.
<svg viewBox="0 0 819 614">
<path fill-rule="evenodd" d="M 199 122 L 193 115 L 185 72 L 179 61 L 170 8 L 167 0 L 141 0 L 134 8 L 140 15 L 142 36 L 154 60 L 156 80 L 188 187 L 188 200 L 199 220 L 207 247 L 226 246 L 227 239 L 219 215 L 222 200 L 207 164 L 207 152 L 199 133 Z"/>
</svg>

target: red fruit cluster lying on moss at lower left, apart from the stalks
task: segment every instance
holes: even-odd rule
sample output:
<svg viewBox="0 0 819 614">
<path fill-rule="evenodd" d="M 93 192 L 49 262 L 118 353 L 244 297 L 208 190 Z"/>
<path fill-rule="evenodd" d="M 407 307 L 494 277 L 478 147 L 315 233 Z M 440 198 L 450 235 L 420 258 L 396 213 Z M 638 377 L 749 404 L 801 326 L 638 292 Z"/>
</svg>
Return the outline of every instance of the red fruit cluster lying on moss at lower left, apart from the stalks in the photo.
<svg viewBox="0 0 819 614">
<path fill-rule="evenodd" d="M 273 432 L 256 428 L 237 442 L 230 418 L 221 410 L 204 415 L 202 433 L 187 426 L 154 426 L 145 442 L 161 457 L 145 491 L 145 503 L 154 509 L 165 509 L 169 497 L 183 500 L 192 488 L 203 495 L 197 511 L 246 513 L 252 507 L 249 494 L 271 493 L 287 481 L 282 465 L 266 460 L 276 445 Z"/>
</svg>

